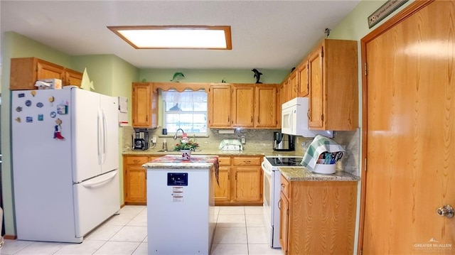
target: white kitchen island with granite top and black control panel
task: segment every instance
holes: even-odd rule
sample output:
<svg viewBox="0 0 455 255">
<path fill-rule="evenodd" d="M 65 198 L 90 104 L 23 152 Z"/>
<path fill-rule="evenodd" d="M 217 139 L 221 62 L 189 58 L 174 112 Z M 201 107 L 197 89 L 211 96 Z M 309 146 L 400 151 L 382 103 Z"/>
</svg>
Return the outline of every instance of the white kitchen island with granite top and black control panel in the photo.
<svg viewBox="0 0 455 255">
<path fill-rule="evenodd" d="M 166 155 L 145 163 L 149 254 L 210 254 L 218 156 Z"/>
</svg>

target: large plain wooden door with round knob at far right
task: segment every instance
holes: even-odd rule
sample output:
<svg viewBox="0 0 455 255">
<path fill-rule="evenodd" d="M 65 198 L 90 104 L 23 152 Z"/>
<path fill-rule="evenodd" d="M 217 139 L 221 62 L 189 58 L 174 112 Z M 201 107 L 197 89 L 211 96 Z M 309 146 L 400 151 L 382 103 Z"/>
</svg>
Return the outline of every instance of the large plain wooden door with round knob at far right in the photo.
<svg viewBox="0 0 455 255">
<path fill-rule="evenodd" d="M 455 217 L 437 214 L 455 207 L 455 1 L 416 1 L 393 19 L 362 40 L 359 249 L 455 254 Z"/>
</svg>

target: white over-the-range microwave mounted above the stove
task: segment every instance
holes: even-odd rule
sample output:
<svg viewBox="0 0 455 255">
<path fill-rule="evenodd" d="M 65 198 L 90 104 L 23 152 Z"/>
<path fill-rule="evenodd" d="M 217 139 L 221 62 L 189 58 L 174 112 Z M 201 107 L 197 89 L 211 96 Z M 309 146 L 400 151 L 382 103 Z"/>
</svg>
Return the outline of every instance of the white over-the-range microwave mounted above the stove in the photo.
<svg viewBox="0 0 455 255">
<path fill-rule="evenodd" d="M 282 104 L 282 133 L 304 137 L 321 134 L 332 138 L 333 131 L 309 130 L 308 105 L 308 97 L 296 97 Z"/>
</svg>

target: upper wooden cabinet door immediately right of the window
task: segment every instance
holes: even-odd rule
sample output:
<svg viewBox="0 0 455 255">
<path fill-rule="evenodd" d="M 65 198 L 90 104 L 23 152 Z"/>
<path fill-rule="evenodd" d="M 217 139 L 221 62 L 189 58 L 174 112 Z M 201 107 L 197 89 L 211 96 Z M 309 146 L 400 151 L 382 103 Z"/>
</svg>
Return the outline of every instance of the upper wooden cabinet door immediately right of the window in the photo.
<svg viewBox="0 0 455 255">
<path fill-rule="evenodd" d="M 208 94 L 208 126 L 230 127 L 231 121 L 230 85 L 210 86 Z"/>
</svg>

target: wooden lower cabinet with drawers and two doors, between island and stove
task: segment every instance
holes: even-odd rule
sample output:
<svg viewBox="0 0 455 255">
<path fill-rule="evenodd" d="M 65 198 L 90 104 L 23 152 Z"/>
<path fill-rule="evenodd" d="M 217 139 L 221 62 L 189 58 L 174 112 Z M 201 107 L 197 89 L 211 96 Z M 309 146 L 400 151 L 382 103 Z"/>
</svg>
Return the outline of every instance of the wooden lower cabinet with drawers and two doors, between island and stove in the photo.
<svg viewBox="0 0 455 255">
<path fill-rule="evenodd" d="M 215 205 L 262 205 L 262 156 L 220 156 L 218 161 Z"/>
</svg>

